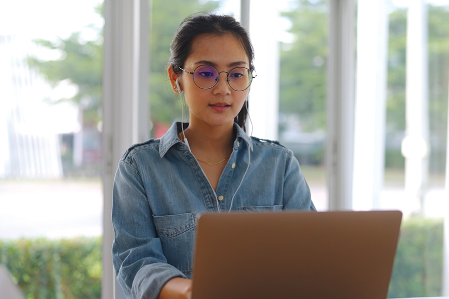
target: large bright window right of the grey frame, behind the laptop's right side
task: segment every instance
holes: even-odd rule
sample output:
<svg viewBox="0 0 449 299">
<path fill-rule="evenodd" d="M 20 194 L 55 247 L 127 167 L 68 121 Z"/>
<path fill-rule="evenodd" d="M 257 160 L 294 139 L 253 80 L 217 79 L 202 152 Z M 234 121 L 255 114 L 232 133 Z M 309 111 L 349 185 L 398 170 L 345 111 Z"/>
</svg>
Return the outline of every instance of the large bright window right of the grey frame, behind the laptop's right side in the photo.
<svg viewBox="0 0 449 299">
<path fill-rule="evenodd" d="M 448 4 L 358 3 L 353 208 L 404 214 L 389 298 L 443 292 Z"/>
</svg>

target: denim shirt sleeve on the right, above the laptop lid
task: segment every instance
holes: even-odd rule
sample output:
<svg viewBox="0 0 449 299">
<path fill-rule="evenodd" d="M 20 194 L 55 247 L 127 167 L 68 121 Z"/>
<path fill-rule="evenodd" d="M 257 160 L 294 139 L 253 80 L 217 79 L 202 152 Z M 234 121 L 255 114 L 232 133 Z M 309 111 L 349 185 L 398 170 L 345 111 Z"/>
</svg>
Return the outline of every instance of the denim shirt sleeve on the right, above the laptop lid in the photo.
<svg viewBox="0 0 449 299">
<path fill-rule="evenodd" d="M 285 167 L 283 206 L 286 210 L 316 211 L 299 162 L 290 149 L 288 150 Z"/>
</svg>

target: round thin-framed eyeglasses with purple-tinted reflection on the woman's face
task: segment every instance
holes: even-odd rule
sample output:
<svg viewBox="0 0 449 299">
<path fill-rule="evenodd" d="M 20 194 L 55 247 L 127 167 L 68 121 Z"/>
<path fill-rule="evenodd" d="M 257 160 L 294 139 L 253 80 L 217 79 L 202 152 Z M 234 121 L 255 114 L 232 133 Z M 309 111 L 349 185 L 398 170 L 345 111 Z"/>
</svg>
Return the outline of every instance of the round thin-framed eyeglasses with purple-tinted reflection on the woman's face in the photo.
<svg viewBox="0 0 449 299">
<path fill-rule="evenodd" d="M 212 65 L 200 65 L 193 72 L 186 71 L 182 68 L 179 69 L 192 74 L 195 84 L 201 89 L 213 88 L 217 84 L 220 74 L 226 73 L 226 80 L 230 88 L 235 91 L 243 91 L 251 85 L 252 79 L 257 76 L 255 72 L 253 74 L 253 72 L 245 67 L 236 67 L 229 72 L 219 72 Z"/>
</svg>

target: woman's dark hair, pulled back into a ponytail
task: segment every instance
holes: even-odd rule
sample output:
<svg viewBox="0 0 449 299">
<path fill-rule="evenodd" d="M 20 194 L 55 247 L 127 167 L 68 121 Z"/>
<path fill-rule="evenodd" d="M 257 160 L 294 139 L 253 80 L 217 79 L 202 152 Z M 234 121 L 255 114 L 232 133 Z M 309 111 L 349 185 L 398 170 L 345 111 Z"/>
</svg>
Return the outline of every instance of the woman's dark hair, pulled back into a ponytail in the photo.
<svg viewBox="0 0 449 299">
<path fill-rule="evenodd" d="M 169 60 L 175 74 L 181 72 L 178 67 L 184 67 L 184 63 L 192 51 L 192 42 L 200 34 L 232 34 L 240 42 L 248 56 L 249 70 L 251 72 L 254 70 L 254 49 L 246 29 L 232 16 L 202 13 L 185 18 L 175 32 L 175 37 L 170 44 L 171 55 Z M 245 130 L 247 115 L 247 104 L 244 104 L 234 119 L 234 122 L 243 130 Z"/>
</svg>

